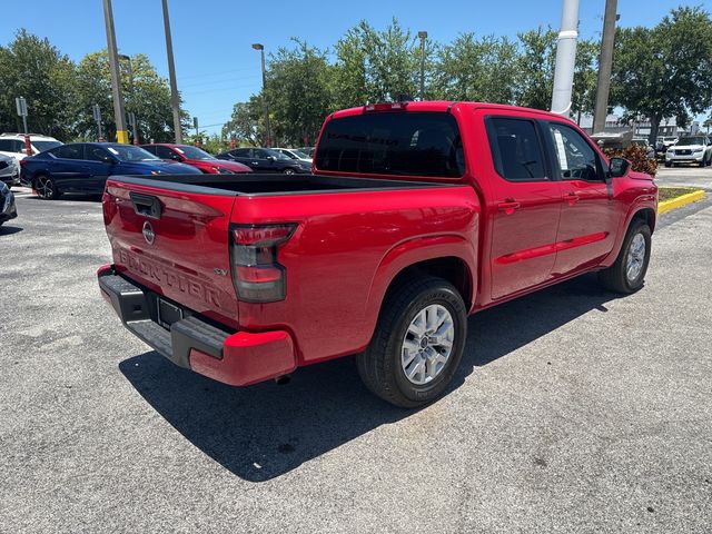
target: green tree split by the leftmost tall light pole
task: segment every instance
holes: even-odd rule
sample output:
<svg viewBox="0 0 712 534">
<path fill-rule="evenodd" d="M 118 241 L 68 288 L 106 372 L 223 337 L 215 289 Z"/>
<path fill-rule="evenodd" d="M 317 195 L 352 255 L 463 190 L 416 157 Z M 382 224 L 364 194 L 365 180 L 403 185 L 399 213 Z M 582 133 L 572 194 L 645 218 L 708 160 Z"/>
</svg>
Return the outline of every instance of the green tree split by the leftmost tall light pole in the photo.
<svg viewBox="0 0 712 534">
<path fill-rule="evenodd" d="M 85 56 L 77 68 L 77 79 L 76 135 L 82 139 L 96 138 L 97 127 L 91 108 L 98 103 L 101 108 L 103 137 L 107 140 L 115 139 L 116 122 L 107 51 Z M 149 139 L 167 142 L 174 139 L 168 82 L 158 76 L 154 66 L 142 53 L 131 57 L 131 77 L 129 77 L 128 63 L 121 61 L 121 90 L 125 111 L 136 115 L 141 142 Z M 184 117 L 184 120 L 186 119 L 187 117 Z"/>
</svg>

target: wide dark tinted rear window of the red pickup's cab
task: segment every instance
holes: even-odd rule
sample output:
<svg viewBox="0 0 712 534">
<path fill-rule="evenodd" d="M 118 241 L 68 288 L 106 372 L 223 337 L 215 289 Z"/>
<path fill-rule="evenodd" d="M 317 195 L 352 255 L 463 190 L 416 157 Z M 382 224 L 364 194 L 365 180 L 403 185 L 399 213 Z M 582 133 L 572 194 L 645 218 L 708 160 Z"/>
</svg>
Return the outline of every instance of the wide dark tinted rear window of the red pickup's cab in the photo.
<svg viewBox="0 0 712 534">
<path fill-rule="evenodd" d="M 443 112 L 375 112 L 333 119 L 316 168 L 338 172 L 458 178 L 465 172 L 457 121 Z"/>
</svg>

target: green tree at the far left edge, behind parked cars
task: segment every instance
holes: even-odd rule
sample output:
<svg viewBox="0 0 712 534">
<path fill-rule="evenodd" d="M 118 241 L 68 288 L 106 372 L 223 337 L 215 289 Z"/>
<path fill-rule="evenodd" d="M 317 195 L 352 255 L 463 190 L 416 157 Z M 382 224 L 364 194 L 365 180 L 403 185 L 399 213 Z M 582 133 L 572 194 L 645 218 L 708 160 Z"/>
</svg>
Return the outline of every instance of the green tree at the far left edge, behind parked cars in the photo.
<svg viewBox="0 0 712 534">
<path fill-rule="evenodd" d="M 30 131 L 71 137 L 75 65 L 49 40 L 18 31 L 8 47 L 0 47 L 0 131 L 22 131 L 14 99 L 24 97 Z"/>
</svg>

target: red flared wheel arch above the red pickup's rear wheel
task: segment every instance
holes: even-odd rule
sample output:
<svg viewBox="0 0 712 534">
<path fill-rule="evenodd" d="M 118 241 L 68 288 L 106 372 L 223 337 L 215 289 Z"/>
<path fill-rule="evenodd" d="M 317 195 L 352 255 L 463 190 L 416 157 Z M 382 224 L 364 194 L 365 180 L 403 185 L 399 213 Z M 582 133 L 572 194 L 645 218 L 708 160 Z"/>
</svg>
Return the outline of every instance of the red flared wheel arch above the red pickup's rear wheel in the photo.
<svg viewBox="0 0 712 534">
<path fill-rule="evenodd" d="M 474 301 L 477 278 L 473 274 L 477 273 L 477 251 L 472 241 L 458 235 L 426 236 L 408 239 L 388 250 L 374 274 L 365 315 L 367 317 L 365 326 L 369 340 L 376 328 L 376 322 L 378 320 L 386 291 L 396 276 L 408 267 L 437 258 L 457 258 L 465 264 L 469 276 L 469 294 L 463 295 L 463 299 L 471 304 Z"/>
</svg>

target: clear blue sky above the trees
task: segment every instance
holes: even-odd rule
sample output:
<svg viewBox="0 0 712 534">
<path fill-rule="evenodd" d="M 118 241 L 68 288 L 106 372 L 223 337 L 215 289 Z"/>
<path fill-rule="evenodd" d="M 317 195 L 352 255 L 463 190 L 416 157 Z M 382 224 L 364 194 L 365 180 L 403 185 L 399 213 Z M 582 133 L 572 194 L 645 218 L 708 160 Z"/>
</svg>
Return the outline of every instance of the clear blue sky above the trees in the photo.
<svg viewBox="0 0 712 534">
<path fill-rule="evenodd" d="M 40 37 L 75 61 L 106 48 L 102 0 L 2 1 L 0 46 L 20 28 Z M 112 0 L 119 53 L 145 53 L 168 77 L 160 0 Z M 620 26 L 654 26 L 672 8 L 703 6 L 710 0 L 622 0 Z M 319 48 L 332 47 L 349 28 L 366 20 L 376 29 L 396 17 L 413 33 L 448 42 L 463 32 L 515 37 L 537 26 L 558 29 L 561 0 L 323 1 L 244 2 L 236 0 L 168 0 L 178 89 L 184 108 L 198 117 L 200 129 L 219 131 L 233 109 L 261 85 L 259 52 L 290 44 L 297 37 Z M 506 9 L 505 9 L 506 6 Z M 581 0 L 580 33 L 600 37 L 605 0 Z"/>
</svg>

